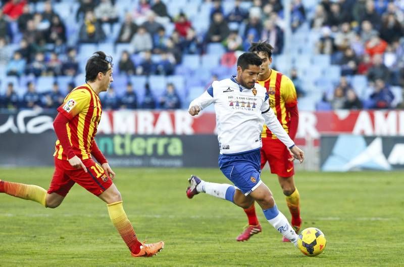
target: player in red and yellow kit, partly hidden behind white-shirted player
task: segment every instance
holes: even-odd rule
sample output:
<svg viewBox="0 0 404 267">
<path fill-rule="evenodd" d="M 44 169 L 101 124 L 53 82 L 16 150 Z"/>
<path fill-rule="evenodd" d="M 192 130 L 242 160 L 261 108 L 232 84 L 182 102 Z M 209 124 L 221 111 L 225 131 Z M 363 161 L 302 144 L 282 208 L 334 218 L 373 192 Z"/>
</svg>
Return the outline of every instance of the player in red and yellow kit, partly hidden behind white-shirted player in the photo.
<svg viewBox="0 0 404 267">
<path fill-rule="evenodd" d="M 271 108 L 289 137 L 293 140 L 296 136 L 299 120 L 296 90 L 293 82 L 286 75 L 269 67 L 272 63 L 272 51 L 273 47 L 267 42 L 253 42 L 249 48 L 249 52 L 256 53 L 263 60 L 257 83 L 266 88 Z M 286 204 L 292 216 L 291 226 L 298 233 L 301 226 L 300 196 L 293 181 L 293 156 L 266 125 L 264 125 L 261 137 L 263 143 L 261 148 L 261 168 L 263 169 L 268 161 L 271 173 L 278 175 L 279 185 L 286 197 Z M 262 231 L 254 203 L 249 208 L 244 209 L 244 212 L 248 217 L 248 226 L 237 237 L 237 241 L 246 241 L 252 235 Z M 283 237 L 282 241 L 288 242 L 289 240 Z"/>
</svg>

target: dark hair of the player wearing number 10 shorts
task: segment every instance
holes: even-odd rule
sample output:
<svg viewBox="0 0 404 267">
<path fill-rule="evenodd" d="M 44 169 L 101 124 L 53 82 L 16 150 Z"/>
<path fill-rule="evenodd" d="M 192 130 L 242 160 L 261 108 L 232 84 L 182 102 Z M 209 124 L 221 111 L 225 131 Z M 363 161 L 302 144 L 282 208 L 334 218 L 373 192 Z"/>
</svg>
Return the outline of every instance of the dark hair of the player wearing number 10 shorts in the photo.
<svg viewBox="0 0 404 267">
<path fill-rule="evenodd" d="M 100 72 L 106 74 L 112 65 L 111 56 L 107 56 L 103 51 L 95 52 L 85 65 L 85 81 L 94 81 Z"/>
</svg>

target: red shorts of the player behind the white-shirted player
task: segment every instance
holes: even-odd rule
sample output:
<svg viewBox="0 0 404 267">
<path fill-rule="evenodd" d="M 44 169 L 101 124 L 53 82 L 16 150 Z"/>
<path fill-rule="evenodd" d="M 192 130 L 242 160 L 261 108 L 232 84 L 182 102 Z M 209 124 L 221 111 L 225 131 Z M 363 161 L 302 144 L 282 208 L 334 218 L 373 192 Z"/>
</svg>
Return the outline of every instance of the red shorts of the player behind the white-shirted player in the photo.
<svg viewBox="0 0 404 267">
<path fill-rule="evenodd" d="M 271 173 L 281 177 L 290 177 L 294 174 L 294 167 L 293 161 L 289 161 L 289 158 L 291 158 L 289 150 L 279 139 L 262 139 L 261 169 L 268 161 Z"/>
</svg>

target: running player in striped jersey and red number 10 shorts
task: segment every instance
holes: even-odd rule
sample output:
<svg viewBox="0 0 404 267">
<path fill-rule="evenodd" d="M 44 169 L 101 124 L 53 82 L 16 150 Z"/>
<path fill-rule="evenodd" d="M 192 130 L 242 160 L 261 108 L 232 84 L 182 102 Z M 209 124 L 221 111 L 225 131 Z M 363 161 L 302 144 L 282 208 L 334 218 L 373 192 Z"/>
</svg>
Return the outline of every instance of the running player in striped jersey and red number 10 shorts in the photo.
<svg viewBox="0 0 404 267">
<path fill-rule="evenodd" d="M 49 189 L 0 180 L 0 193 L 56 208 L 77 183 L 107 203 L 111 221 L 132 256 L 153 256 L 164 248 L 164 242 L 144 244 L 137 240 L 123 209 L 121 194 L 112 182 L 115 173 L 94 140 L 102 113 L 98 94 L 106 92 L 114 80 L 112 67 L 111 57 L 95 52 L 85 66 L 86 83 L 74 88 L 57 109 L 55 172 Z"/>
</svg>

